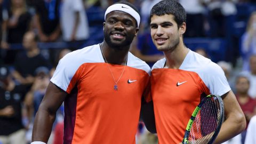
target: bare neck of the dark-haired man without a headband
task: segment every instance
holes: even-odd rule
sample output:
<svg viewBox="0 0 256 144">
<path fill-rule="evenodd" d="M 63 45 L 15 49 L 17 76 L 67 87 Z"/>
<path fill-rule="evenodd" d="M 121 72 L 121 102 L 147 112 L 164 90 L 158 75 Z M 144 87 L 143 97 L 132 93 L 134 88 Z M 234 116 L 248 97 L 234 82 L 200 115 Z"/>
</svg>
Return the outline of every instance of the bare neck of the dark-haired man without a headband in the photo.
<svg viewBox="0 0 256 144">
<path fill-rule="evenodd" d="M 188 52 L 189 49 L 183 43 L 179 43 L 173 51 L 165 51 L 165 68 L 179 69 Z"/>
</svg>

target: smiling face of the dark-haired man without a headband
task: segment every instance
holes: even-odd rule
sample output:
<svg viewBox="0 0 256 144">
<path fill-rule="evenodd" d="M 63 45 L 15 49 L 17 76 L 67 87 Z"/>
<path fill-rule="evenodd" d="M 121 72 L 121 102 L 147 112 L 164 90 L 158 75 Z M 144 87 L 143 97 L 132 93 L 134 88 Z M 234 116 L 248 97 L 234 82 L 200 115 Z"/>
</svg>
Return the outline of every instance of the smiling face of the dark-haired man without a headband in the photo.
<svg viewBox="0 0 256 144">
<path fill-rule="evenodd" d="M 151 38 L 159 51 L 173 51 L 182 41 L 186 23 L 179 28 L 172 14 L 153 15 L 150 22 Z M 183 43 L 183 42 L 182 42 Z"/>
</svg>

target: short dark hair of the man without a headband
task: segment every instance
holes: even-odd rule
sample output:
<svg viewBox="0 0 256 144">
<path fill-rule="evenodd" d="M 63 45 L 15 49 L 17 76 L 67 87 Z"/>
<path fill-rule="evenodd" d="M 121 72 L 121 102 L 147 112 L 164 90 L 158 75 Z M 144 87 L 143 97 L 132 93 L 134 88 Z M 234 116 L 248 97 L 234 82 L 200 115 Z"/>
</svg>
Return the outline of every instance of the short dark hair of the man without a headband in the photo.
<svg viewBox="0 0 256 144">
<path fill-rule="evenodd" d="M 186 22 L 186 11 L 184 7 L 173 0 L 163 0 L 153 6 L 150 11 L 150 19 L 153 15 L 162 16 L 164 14 L 174 15 L 174 21 L 180 27 L 183 22 Z"/>
</svg>

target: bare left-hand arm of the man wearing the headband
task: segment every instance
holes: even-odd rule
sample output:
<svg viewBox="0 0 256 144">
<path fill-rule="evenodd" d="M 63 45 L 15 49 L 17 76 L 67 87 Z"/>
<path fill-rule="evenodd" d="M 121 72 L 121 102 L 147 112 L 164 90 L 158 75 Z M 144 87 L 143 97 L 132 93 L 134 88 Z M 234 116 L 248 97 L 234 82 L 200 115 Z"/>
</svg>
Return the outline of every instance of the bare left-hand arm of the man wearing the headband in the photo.
<svg viewBox="0 0 256 144">
<path fill-rule="evenodd" d="M 65 91 L 50 82 L 36 114 L 32 141 L 47 143 L 52 131 L 52 124 L 56 117 L 56 111 L 66 96 L 67 93 Z"/>
</svg>

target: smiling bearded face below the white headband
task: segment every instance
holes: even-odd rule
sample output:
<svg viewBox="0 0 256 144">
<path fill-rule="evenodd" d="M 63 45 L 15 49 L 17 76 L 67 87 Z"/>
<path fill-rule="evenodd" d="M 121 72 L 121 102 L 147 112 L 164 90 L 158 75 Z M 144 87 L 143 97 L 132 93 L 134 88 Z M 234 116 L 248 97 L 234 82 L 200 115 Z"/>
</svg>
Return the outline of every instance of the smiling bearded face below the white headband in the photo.
<svg viewBox="0 0 256 144">
<path fill-rule="evenodd" d="M 135 19 L 122 11 L 110 12 L 103 23 L 104 39 L 110 47 L 130 45 L 138 30 Z"/>
</svg>

